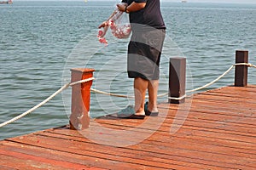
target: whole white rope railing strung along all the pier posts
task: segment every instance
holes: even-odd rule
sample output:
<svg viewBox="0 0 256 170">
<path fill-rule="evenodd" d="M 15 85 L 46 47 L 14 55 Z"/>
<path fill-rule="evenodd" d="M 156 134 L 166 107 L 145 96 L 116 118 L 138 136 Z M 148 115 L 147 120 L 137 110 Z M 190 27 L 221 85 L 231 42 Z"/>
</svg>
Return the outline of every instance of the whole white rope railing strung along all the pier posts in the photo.
<svg viewBox="0 0 256 170">
<path fill-rule="evenodd" d="M 211 86 L 213 83 L 215 82 L 218 82 L 218 80 L 220 80 L 222 77 L 224 77 L 226 74 L 228 74 L 234 67 L 236 67 L 237 65 L 247 65 L 248 67 L 253 67 L 253 68 L 256 68 L 256 65 L 252 65 L 250 63 L 238 63 L 238 64 L 235 64 L 235 65 L 231 65 L 230 68 L 225 71 L 220 77 L 216 78 L 215 80 L 213 80 L 212 82 L 209 82 L 207 83 L 206 85 L 202 86 L 201 88 L 195 88 L 193 90 L 188 90 L 186 91 L 186 93 L 192 93 L 192 92 L 195 92 L 195 91 L 198 91 L 198 90 L 201 90 L 203 88 L 207 88 L 209 86 Z M 53 99 L 57 94 L 60 94 L 63 90 L 65 90 L 66 88 L 68 87 L 72 87 L 74 85 L 77 85 L 79 83 L 83 83 L 83 82 L 90 82 L 92 80 L 94 80 L 95 78 L 94 77 L 90 77 L 88 79 L 84 79 L 84 80 L 80 80 L 80 81 L 77 81 L 77 82 L 68 82 L 67 84 L 63 85 L 59 90 L 57 90 L 54 94 L 51 94 L 47 99 L 44 99 L 44 101 L 42 101 L 41 103 L 39 103 L 38 105 L 35 105 L 34 107 L 32 107 L 30 110 L 20 114 L 19 116 L 15 116 L 14 118 L 10 119 L 9 121 L 7 122 L 3 122 L 0 124 L 0 127 L 3 127 L 5 125 L 8 125 L 9 123 L 11 122 L 15 122 L 16 120 L 30 114 L 32 111 L 35 111 L 37 110 L 39 107 L 41 107 L 42 105 L 46 104 L 47 102 L 49 102 L 50 99 Z M 100 90 L 96 90 L 94 88 L 90 88 L 90 90 L 94 93 L 98 93 L 98 94 L 106 94 L 106 95 L 110 95 L 110 96 L 115 96 L 115 97 L 120 97 L 120 98 L 134 98 L 134 96 L 127 96 L 127 95 L 122 95 L 122 94 L 111 94 L 111 93 L 107 93 L 107 92 L 103 92 L 103 91 L 100 91 Z M 166 94 L 159 94 L 157 97 L 164 97 L 168 95 L 168 93 Z M 183 99 L 183 98 L 186 98 L 187 95 L 183 95 L 182 97 L 179 97 L 179 98 L 173 98 L 173 97 L 169 97 L 169 99 Z M 148 96 L 146 97 L 148 98 Z"/>
</svg>

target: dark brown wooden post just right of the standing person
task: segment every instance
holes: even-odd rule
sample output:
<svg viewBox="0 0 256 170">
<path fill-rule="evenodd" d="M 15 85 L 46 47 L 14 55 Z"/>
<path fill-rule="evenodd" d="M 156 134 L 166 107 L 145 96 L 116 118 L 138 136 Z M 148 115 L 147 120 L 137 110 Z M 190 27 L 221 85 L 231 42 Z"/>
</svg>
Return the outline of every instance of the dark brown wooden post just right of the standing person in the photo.
<svg viewBox="0 0 256 170">
<path fill-rule="evenodd" d="M 169 99 L 172 104 L 185 102 L 186 58 L 171 58 L 169 63 Z"/>
</svg>

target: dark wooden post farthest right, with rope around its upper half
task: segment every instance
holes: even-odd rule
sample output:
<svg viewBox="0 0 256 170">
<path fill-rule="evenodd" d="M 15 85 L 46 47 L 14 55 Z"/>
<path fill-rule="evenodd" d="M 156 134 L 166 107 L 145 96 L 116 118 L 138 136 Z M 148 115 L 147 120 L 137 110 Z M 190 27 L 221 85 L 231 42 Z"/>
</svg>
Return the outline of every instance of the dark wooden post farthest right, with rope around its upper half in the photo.
<svg viewBox="0 0 256 170">
<path fill-rule="evenodd" d="M 248 63 L 248 51 L 236 50 L 236 64 Z M 247 65 L 236 65 L 235 69 L 235 86 L 246 87 L 247 86 Z"/>
</svg>

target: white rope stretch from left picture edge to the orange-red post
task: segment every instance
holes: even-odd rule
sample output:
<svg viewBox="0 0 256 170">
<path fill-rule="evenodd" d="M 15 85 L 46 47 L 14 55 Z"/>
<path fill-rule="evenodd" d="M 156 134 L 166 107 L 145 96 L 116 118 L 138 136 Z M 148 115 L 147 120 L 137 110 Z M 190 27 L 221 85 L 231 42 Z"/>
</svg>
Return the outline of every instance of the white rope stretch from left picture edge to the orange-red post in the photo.
<svg viewBox="0 0 256 170">
<path fill-rule="evenodd" d="M 79 83 L 83 83 L 83 82 L 89 82 L 89 81 L 92 81 L 94 80 L 95 78 L 92 77 L 92 78 L 88 78 L 88 79 L 84 79 L 84 80 L 81 80 L 81 81 L 78 81 L 78 82 L 69 82 L 67 84 L 65 84 L 64 86 L 62 86 L 59 90 L 57 90 L 54 94 L 51 94 L 47 99 L 44 99 L 44 101 L 42 101 L 41 103 L 39 103 L 38 105 L 35 105 L 34 107 L 32 107 L 32 109 L 20 114 L 19 116 L 15 116 L 14 118 L 10 119 L 9 121 L 7 122 L 3 122 L 0 124 L 0 127 L 3 127 L 5 125 L 8 125 L 9 123 L 11 122 L 15 122 L 16 120 L 20 119 L 21 117 L 24 117 L 28 114 L 30 114 L 32 111 L 35 111 L 37 110 L 39 107 L 41 107 L 42 105 L 46 104 L 47 102 L 49 102 L 50 99 L 53 99 L 57 94 L 60 94 L 63 90 L 65 90 L 66 88 L 68 88 L 69 86 L 73 86 L 73 85 L 76 85 L 76 84 L 79 84 Z"/>
</svg>

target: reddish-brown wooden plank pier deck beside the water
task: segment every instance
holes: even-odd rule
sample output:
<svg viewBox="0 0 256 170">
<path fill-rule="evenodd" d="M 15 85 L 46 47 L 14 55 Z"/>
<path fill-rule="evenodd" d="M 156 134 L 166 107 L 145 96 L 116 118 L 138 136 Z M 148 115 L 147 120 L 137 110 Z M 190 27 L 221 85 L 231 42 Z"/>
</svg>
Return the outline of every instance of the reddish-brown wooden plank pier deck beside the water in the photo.
<svg viewBox="0 0 256 170">
<path fill-rule="evenodd" d="M 159 110 L 145 120 L 96 119 L 90 128 L 110 131 L 95 135 L 66 126 L 5 139 L 0 169 L 256 169 L 255 85 L 209 90 Z M 135 135 L 107 133 L 115 131 Z"/>
</svg>

